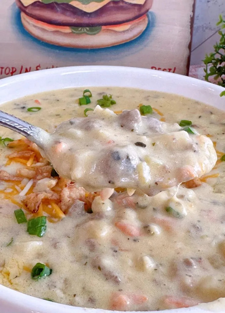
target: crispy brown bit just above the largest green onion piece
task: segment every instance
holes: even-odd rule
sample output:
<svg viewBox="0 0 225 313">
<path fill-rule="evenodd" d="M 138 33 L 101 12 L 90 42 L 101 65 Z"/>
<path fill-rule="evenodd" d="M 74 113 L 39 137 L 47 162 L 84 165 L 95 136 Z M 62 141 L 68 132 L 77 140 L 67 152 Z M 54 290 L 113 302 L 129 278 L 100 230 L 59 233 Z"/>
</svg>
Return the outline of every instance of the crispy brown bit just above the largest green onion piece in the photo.
<svg viewBox="0 0 225 313">
<path fill-rule="evenodd" d="M 32 213 L 36 213 L 43 199 L 59 200 L 59 196 L 55 192 L 33 192 L 23 200 L 23 203 L 27 206 L 28 210 Z"/>
</svg>

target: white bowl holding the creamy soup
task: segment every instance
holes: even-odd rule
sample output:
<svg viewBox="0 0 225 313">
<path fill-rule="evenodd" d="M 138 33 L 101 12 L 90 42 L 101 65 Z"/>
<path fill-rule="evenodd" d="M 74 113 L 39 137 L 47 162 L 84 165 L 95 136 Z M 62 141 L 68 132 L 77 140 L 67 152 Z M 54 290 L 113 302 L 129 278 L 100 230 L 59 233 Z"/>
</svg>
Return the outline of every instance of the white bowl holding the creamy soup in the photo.
<svg viewBox="0 0 225 313">
<path fill-rule="evenodd" d="M 222 87 L 178 74 L 116 66 L 64 67 L 5 78 L 0 80 L 0 104 L 37 92 L 81 86 L 120 86 L 158 90 L 189 97 L 225 110 L 225 97 L 219 96 L 224 90 Z M 192 308 L 155 313 L 206 313 L 212 311 L 225 313 L 224 298 Z M 0 285 L 0 313 L 84 312 L 112 313 L 113 311 L 62 305 L 24 295 Z"/>
</svg>

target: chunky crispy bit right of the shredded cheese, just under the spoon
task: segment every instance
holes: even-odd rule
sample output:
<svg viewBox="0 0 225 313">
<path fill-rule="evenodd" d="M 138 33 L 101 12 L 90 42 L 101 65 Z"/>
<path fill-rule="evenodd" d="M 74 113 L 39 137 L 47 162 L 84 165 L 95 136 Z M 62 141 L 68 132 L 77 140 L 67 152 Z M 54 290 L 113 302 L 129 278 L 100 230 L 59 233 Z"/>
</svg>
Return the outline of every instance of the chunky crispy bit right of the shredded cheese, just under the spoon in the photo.
<svg viewBox="0 0 225 313">
<path fill-rule="evenodd" d="M 75 200 L 85 202 L 85 189 L 83 187 L 76 187 L 76 184 L 70 184 L 63 188 L 61 192 L 61 209 L 63 213 L 67 212 Z"/>
</svg>

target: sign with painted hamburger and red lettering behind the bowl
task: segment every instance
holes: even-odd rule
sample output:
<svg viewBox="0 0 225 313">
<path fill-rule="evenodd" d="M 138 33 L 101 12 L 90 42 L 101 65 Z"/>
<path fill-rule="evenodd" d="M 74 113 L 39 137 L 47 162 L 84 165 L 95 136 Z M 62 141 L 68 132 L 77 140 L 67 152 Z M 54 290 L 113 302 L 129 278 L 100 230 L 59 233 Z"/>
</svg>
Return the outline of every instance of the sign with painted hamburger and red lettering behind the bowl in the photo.
<svg viewBox="0 0 225 313">
<path fill-rule="evenodd" d="M 0 78 L 71 65 L 188 73 L 194 0 L 4 0 Z"/>
</svg>

